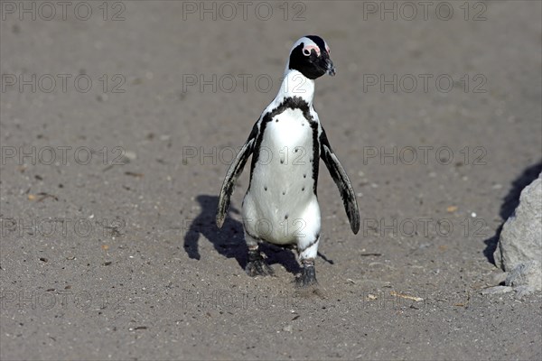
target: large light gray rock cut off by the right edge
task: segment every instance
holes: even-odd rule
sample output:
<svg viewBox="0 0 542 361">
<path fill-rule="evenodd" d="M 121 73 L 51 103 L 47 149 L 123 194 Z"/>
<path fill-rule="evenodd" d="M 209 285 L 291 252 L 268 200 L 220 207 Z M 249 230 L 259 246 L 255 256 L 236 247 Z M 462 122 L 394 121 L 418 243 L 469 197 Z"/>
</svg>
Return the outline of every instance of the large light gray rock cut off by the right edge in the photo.
<svg viewBox="0 0 542 361">
<path fill-rule="evenodd" d="M 502 227 L 494 257 L 506 272 L 531 260 L 542 263 L 542 173 L 521 191 L 518 208 Z"/>
</svg>

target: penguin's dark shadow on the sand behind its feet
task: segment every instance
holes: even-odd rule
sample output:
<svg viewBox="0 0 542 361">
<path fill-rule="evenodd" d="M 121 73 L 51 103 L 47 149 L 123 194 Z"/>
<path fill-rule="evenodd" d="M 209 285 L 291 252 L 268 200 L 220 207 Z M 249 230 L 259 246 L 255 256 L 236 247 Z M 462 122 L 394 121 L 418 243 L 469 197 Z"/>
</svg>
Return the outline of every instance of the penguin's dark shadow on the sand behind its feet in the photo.
<svg viewBox="0 0 542 361">
<path fill-rule="evenodd" d="M 227 217 L 222 228 L 216 225 L 217 206 L 219 197 L 199 195 L 196 200 L 200 203 L 201 213 L 185 228 L 184 250 L 192 259 L 201 259 L 199 241 L 203 236 L 207 238 L 220 255 L 235 258 L 244 270 L 248 262 L 248 247 L 244 239 L 243 224 L 236 219 Z M 229 214 L 239 214 L 237 208 L 229 206 Z M 276 245 L 260 243 L 259 247 L 266 256 L 267 264 L 282 264 L 289 273 L 299 273 L 301 267 L 295 255 L 289 249 Z"/>
</svg>

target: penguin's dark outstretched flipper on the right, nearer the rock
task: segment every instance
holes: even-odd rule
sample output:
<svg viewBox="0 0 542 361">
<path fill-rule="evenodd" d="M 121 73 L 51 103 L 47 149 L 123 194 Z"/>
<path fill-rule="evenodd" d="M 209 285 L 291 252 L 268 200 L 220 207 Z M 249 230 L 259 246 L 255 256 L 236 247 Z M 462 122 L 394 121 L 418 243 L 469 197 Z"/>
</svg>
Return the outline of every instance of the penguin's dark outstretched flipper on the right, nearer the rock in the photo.
<svg viewBox="0 0 542 361">
<path fill-rule="evenodd" d="M 327 139 L 325 131 L 322 128 L 322 134 L 320 134 L 320 157 L 322 158 L 325 166 L 332 175 L 332 179 L 337 184 L 337 188 L 341 192 L 342 203 L 344 204 L 344 209 L 348 219 L 350 220 L 350 227 L 354 235 L 360 230 L 360 210 L 358 209 L 358 201 L 356 200 L 356 194 L 352 189 L 350 179 L 342 168 L 341 162 L 335 156 L 335 153 L 332 151 L 332 146 Z"/>
</svg>

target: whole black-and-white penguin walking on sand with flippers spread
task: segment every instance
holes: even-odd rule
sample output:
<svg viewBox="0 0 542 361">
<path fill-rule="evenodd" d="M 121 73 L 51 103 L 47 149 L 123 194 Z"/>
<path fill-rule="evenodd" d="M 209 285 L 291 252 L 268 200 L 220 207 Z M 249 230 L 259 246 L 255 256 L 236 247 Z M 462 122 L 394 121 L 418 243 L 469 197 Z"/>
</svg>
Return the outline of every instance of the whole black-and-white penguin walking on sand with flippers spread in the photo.
<svg viewBox="0 0 542 361">
<path fill-rule="evenodd" d="M 314 79 L 325 73 L 335 75 L 326 42 L 316 35 L 295 42 L 278 94 L 252 128 L 222 184 L 218 227 L 224 223 L 235 181 L 252 154 L 250 182 L 242 205 L 248 245 L 246 271 L 251 276 L 274 273 L 258 251 L 258 242 L 265 241 L 293 245 L 302 265 L 297 284 L 316 283 L 314 259 L 321 223 L 316 192 L 320 158 L 341 192 L 353 233 L 360 229 L 354 190 L 313 108 Z"/>
</svg>

